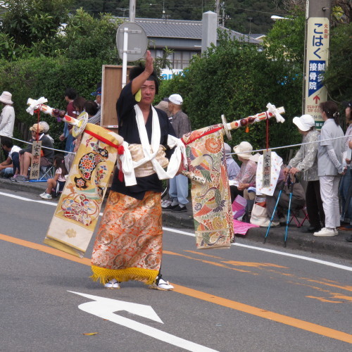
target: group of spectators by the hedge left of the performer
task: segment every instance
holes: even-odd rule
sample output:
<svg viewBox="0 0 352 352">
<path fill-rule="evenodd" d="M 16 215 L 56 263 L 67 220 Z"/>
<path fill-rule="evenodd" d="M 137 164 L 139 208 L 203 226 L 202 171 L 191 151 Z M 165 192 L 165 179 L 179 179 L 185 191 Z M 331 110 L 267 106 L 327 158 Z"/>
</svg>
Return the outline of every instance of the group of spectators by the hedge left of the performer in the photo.
<svg viewBox="0 0 352 352">
<path fill-rule="evenodd" d="M 64 99 L 67 103 L 66 115 L 73 118 L 79 117 L 83 112 L 88 114 L 89 123 L 100 125 L 101 122 L 101 83 L 97 84 L 96 91 L 92 93 L 95 97 L 94 101 L 87 101 L 82 96 L 79 96 L 75 89 L 65 89 Z M 56 169 L 53 179 L 47 180 L 48 187 L 46 191 L 41 194 L 42 198 L 49 199 L 51 197 L 50 189 L 55 192 L 56 184 L 63 186 L 63 177 L 67 175 L 68 170 L 58 167 L 56 164 L 61 161 L 61 157 L 65 164 L 70 166 L 73 160 L 75 151 L 77 151 L 78 142 L 72 134 L 72 126 L 64 122 L 63 133 L 59 140 L 65 141 L 65 159 L 63 153 L 55 154 L 54 138 L 49 134 L 49 124 L 46 121 L 40 121 L 30 127 L 31 138 L 27 146 L 20 148 L 14 144 L 13 129 L 15 126 L 15 110 L 13 108 L 12 94 L 10 92 L 2 92 L 0 96 L 0 103 L 4 106 L 0 115 L 0 177 L 10 178 L 13 182 L 29 182 L 30 181 L 30 167 L 32 165 L 32 144 L 34 141 L 42 142 L 39 157 L 39 173 L 38 178 L 46 175 L 50 168 Z M 58 175 L 58 170 L 63 171 L 63 175 Z M 53 186 L 53 187 L 49 187 Z M 54 187 L 55 186 L 55 187 Z"/>
</svg>

